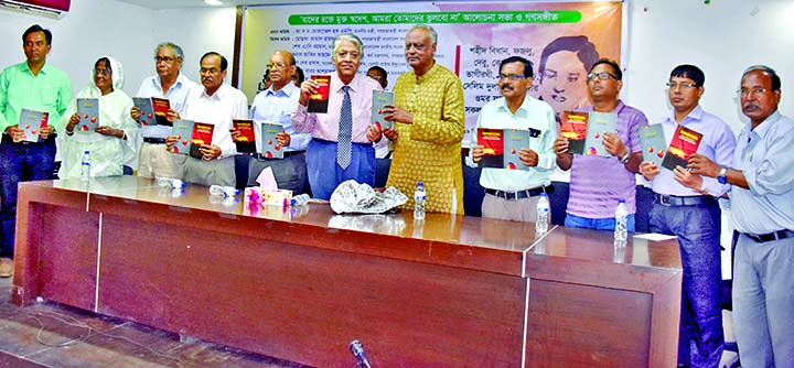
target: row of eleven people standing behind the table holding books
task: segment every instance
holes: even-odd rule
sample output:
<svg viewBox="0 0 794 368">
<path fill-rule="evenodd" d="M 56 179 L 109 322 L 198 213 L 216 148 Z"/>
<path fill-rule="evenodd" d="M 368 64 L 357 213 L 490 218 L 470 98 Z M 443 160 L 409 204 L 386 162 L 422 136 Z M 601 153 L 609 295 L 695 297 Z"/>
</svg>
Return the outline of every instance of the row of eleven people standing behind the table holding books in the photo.
<svg viewBox="0 0 794 368">
<path fill-rule="evenodd" d="M 96 134 L 75 134 L 79 118 L 66 75 L 46 64 L 52 34 L 39 25 L 22 36 L 26 62 L 0 74 L 0 174 L 2 175 L 2 263 L 0 275 L 10 275 L 13 257 L 17 183 L 50 178 L 60 140 L 62 177 L 79 174 L 82 150 L 89 149 L 103 165 L 95 175 L 118 175 L 124 167 L 141 176 L 181 177 L 186 182 L 235 185 L 233 119 L 278 122 L 276 136 L 286 148 L 283 160 L 255 153 L 249 158 L 247 185 L 256 185 L 270 167 L 281 188 L 307 191 L 330 198 L 346 180 L 374 185 L 375 147 L 391 142 L 394 155 L 387 185 L 411 193 L 422 181 L 429 212 L 461 214 L 463 178 L 461 140 L 465 131 L 463 88 L 460 79 L 434 61 L 438 34 L 416 25 L 406 34 L 409 71 L 394 85 L 395 102 L 386 106 L 394 128 L 371 125 L 373 90 L 386 86 L 386 73 L 358 73 L 364 56 L 362 41 L 340 34 L 332 43 L 326 113 L 308 111 L 318 89 L 312 79 L 293 83 L 296 59 L 288 51 L 270 56 L 271 83 L 254 99 L 224 83 L 227 61 L 215 52 L 200 61 L 201 87 L 180 73 L 184 55 L 173 43 L 155 48 L 157 75 L 144 79 L 140 97 L 168 98 L 169 119 L 192 119 L 215 125 L 213 143 L 201 148 L 201 159 L 169 152 L 181 137 L 168 127 L 139 127 L 140 111 L 121 90 L 124 71 L 112 57 L 99 58 L 93 79 L 78 97 L 100 100 L 101 126 Z M 720 208 L 717 198 L 729 196 L 737 229 L 733 305 L 737 340 L 748 367 L 794 366 L 794 122 L 777 111 L 780 77 L 766 66 L 752 66 L 741 76 L 738 91 L 750 123 L 734 139 L 730 128 L 699 106 L 705 74 L 694 65 L 676 66 L 667 80 L 670 115 L 659 123 L 669 142 L 676 127 L 704 133 L 698 153 L 686 167 L 663 170 L 644 161 L 640 129 L 645 115 L 620 98 L 623 75 L 618 63 L 601 58 L 587 65 L 589 100 L 584 111 L 616 116 L 616 131 L 604 134 L 609 156 L 579 155 L 568 151 L 559 133 L 558 115 L 548 102 L 527 90 L 535 78 L 534 65 L 511 56 L 498 66 L 502 98 L 483 106 L 476 127 L 522 129 L 532 132 L 529 147 L 519 152 L 528 170 L 486 167 L 480 184 L 485 190 L 484 217 L 535 220 L 538 196 L 549 193 L 549 173 L 556 167 L 571 172 L 570 199 L 565 225 L 613 229 L 614 208 L 625 199 L 629 229 L 634 228 L 635 174 L 654 192 L 650 214 L 652 231 L 678 237 L 684 268 L 679 364 L 716 367 L 722 353 L 720 311 Z M 541 65 L 541 74 L 550 69 Z M 380 77 L 377 80 L 376 77 Z M 17 126 L 21 108 L 50 112 L 41 142 L 20 140 Z M 476 134 L 472 134 L 475 137 Z M 470 144 L 468 165 L 476 167 L 484 149 Z M 412 206 L 412 198 L 406 206 Z"/>
</svg>

